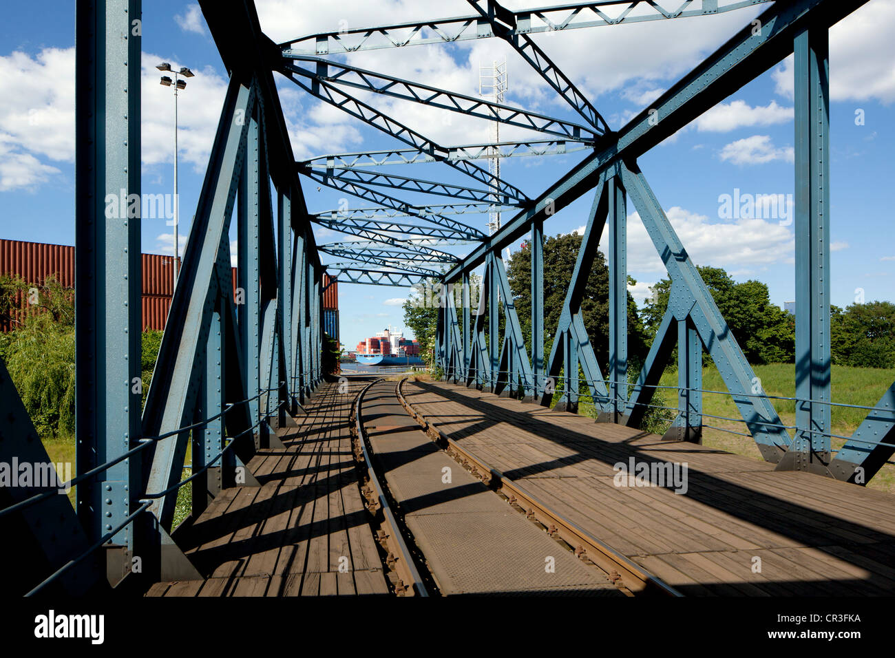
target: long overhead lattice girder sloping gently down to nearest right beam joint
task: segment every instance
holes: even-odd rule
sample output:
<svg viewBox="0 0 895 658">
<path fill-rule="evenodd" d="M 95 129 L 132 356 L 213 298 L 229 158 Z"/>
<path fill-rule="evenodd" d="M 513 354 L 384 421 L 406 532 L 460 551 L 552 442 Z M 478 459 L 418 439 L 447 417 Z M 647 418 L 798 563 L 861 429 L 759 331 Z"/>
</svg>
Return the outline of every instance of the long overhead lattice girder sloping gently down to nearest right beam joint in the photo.
<svg viewBox="0 0 895 658">
<path fill-rule="evenodd" d="M 396 78 L 386 73 L 366 71 L 349 64 L 341 64 L 321 59 L 320 57 L 298 56 L 292 61 L 301 60 L 315 64 L 309 71 L 301 66 L 285 64 L 286 70 L 298 73 L 310 80 L 334 82 L 369 91 L 391 98 L 399 98 L 429 107 L 439 107 L 466 116 L 477 116 L 499 124 L 513 125 L 527 130 L 544 132 L 574 141 L 593 141 L 597 135 L 591 128 L 575 124 L 553 116 L 529 112 L 521 107 L 512 107 L 486 100 L 482 97 L 466 96 L 454 91 L 446 91 L 420 82 L 412 82 Z"/>
</svg>

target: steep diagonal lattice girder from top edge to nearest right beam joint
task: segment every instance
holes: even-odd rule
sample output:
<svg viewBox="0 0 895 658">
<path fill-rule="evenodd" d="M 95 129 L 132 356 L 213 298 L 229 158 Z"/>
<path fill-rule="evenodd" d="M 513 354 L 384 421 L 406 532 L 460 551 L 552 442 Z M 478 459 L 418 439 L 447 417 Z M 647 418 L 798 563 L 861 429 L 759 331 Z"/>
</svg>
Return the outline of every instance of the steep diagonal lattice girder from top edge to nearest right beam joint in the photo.
<svg viewBox="0 0 895 658">
<path fill-rule="evenodd" d="M 606 120 L 597 112 L 575 83 L 550 60 L 528 34 L 516 30 L 516 13 L 510 12 L 497 0 L 468 0 L 482 18 L 491 24 L 495 36 L 503 38 L 537 72 L 541 78 L 581 115 L 596 135 L 609 132 Z"/>
</svg>

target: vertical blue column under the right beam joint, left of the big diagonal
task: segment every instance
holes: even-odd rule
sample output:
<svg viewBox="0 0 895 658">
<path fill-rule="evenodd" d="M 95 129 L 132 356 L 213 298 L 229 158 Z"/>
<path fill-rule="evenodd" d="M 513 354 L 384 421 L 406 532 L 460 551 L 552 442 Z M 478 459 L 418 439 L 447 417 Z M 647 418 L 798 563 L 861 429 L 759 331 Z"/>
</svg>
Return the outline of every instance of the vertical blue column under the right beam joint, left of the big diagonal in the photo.
<svg viewBox="0 0 895 658">
<path fill-rule="evenodd" d="M 627 208 L 618 176 L 609 179 L 609 420 L 627 401 Z"/>
</svg>

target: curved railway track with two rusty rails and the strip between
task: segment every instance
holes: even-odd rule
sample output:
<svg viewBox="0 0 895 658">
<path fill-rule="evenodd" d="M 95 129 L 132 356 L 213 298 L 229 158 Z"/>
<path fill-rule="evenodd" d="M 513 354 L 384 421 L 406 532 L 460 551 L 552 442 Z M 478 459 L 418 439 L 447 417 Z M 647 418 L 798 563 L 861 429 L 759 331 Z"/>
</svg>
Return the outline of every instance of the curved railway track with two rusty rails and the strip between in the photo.
<svg viewBox="0 0 895 658">
<path fill-rule="evenodd" d="M 388 392 L 383 381 L 371 381 L 356 398 L 353 427 L 355 458 L 362 463 L 362 493 L 374 516 L 375 534 L 396 594 L 678 594 L 447 438 L 407 403 L 404 380 Z M 371 406 L 375 407 L 367 410 L 364 402 L 373 387 Z M 368 430 L 373 443 L 392 452 L 378 454 Z M 394 448 L 402 440 L 409 441 L 409 447 Z M 397 455 L 401 458 L 396 459 Z M 431 484 L 421 493 L 413 480 L 424 476 L 430 483 L 427 473 L 444 471 L 445 463 L 462 466 L 455 486 L 463 493 Z M 408 495 L 411 490 L 414 495 Z M 447 526 L 442 519 L 449 519 Z M 523 577 L 521 571 L 535 556 L 548 553 L 548 560 L 558 560 L 561 577 L 545 577 L 536 568 Z M 499 570 L 501 560 L 510 564 L 516 560 L 516 567 L 502 576 L 507 579 L 506 590 L 501 590 L 499 577 L 490 573 Z M 458 573 L 458 564 L 482 565 L 485 573 L 474 576 L 482 577 L 482 582 L 473 582 L 474 577 L 462 573 L 462 568 Z"/>
</svg>

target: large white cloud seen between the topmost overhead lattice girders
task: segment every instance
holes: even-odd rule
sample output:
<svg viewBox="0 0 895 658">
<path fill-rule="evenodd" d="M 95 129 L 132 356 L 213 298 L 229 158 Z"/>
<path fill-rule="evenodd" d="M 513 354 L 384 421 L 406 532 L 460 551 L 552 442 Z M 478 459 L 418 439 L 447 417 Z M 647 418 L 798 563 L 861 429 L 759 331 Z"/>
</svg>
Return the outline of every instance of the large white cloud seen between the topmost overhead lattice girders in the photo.
<svg viewBox="0 0 895 658">
<path fill-rule="evenodd" d="M 534 6 L 538 3 L 537 0 L 524 0 L 514 3 L 513 8 L 519 9 L 523 4 Z M 258 0 L 256 6 L 262 30 L 274 41 L 327 30 L 426 20 L 433 15 L 474 13 L 463 0 L 348 0 L 338 5 L 317 4 L 303 11 L 296 11 L 293 0 Z M 611 13 L 605 8 L 603 11 Z M 634 13 L 640 11 L 637 8 Z M 652 10 L 643 11 L 652 13 Z M 533 39 L 595 106 L 600 107 L 597 97 L 601 94 L 618 92 L 639 110 L 661 94 L 667 86 L 664 81 L 672 81 L 686 73 L 759 11 L 760 8 L 754 7 L 679 21 L 629 23 L 591 30 L 567 30 L 561 34 L 542 33 L 534 34 Z M 424 36 L 431 36 L 430 30 L 423 32 Z M 410 36 L 409 30 L 395 30 L 392 34 L 397 38 Z M 346 40 L 353 43 L 357 39 L 348 37 Z M 631 43 L 648 43 L 650 47 L 632 49 Z M 586 57 L 581 56 L 583 52 L 587 53 Z M 338 59 L 339 56 L 329 58 Z M 479 65 L 506 59 L 508 104 L 524 102 L 525 107 L 546 114 L 558 114 L 558 108 L 563 114 L 571 111 L 567 102 L 499 38 L 456 41 L 449 47 L 431 44 L 361 51 L 345 58 L 362 68 L 388 71 L 407 80 L 473 96 L 478 95 Z M 594 62 L 600 65 L 595 66 Z M 351 93 L 359 95 L 356 90 Z M 420 130 L 433 141 L 452 143 L 455 140 L 451 138 L 458 132 L 465 133 L 467 143 L 480 140 L 480 132 L 487 138 L 487 124 L 476 124 L 476 120 L 466 117 L 453 115 L 454 124 L 445 126 L 441 121 L 444 113 L 431 107 L 381 97 L 373 105 L 389 113 L 394 110 L 398 120 Z M 472 126 L 472 132 L 467 131 L 467 125 Z M 306 137 L 312 139 L 312 136 Z M 507 130 L 506 139 L 516 138 Z"/>
</svg>

